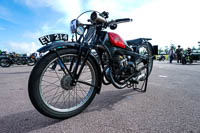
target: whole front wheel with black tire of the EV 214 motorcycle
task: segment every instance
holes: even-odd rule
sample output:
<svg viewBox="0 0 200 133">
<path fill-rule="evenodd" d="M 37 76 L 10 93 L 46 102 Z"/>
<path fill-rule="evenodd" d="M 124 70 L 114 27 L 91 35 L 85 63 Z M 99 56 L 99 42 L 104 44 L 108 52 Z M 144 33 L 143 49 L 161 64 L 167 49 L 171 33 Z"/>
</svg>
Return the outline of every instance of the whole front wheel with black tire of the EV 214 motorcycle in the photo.
<svg viewBox="0 0 200 133">
<path fill-rule="evenodd" d="M 66 67 L 73 70 L 78 59 L 77 50 L 67 49 L 58 52 Z M 77 115 L 95 97 L 97 90 L 94 86 L 99 84 L 98 74 L 100 72 L 89 57 L 78 79 L 80 82 L 72 85 L 72 78 L 62 71 L 56 54 L 47 54 L 36 64 L 30 75 L 30 99 L 39 112 L 51 118 L 65 119 Z"/>
</svg>

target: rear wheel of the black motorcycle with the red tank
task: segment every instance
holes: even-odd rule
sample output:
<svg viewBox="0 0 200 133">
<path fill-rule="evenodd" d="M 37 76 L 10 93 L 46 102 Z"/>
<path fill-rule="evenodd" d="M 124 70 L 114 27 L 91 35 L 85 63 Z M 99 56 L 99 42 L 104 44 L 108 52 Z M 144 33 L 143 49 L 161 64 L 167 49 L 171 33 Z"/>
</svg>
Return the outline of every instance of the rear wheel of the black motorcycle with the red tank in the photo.
<svg viewBox="0 0 200 133">
<path fill-rule="evenodd" d="M 139 47 L 139 54 L 146 57 L 146 60 L 138 59 L 136 61 L 136 67 L 140 73 L 137 77 L 138 83 L 134 84 L 133 88 L 140 92 L 146 92 L 147 76 L 151 74 L 153 67 L 153 53 L 149 45 L 143 44 Z"/>
</svg>

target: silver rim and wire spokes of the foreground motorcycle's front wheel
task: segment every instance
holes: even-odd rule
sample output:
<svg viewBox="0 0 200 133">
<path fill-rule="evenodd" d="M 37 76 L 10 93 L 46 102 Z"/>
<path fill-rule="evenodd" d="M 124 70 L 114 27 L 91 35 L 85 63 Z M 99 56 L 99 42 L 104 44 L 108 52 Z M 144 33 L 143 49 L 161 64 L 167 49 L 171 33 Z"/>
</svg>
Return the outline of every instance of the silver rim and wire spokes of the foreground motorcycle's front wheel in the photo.
<svg viewBox="0 0 200 133">
<path fill-rule="evenodd" d="M 66 59 L 65 65 L 69 68 L 70 58 L 77 58 L 77 55 L 68 54 L 61 56 L 62 60 Z M 47 107 L 57 112 L 70 112 L 83 106 L 91 97 L 94 87 L 84 84 L 76 83 L 76 86 L 70 89 L 61 86 L 61 80 L 64 76 L 63 71 L 60 70 L 60 65 L 57 64 L 55 70 L 52 67 L 58 59 L 51 61 L 40 78 L 40 96 Z M 89 61 L 80 75 L 79 80 L 84 80 L 90 84 L 95 83 L 95 72 Z M 56 79 L 57 78 L 57 79 Z"/>
</svg>

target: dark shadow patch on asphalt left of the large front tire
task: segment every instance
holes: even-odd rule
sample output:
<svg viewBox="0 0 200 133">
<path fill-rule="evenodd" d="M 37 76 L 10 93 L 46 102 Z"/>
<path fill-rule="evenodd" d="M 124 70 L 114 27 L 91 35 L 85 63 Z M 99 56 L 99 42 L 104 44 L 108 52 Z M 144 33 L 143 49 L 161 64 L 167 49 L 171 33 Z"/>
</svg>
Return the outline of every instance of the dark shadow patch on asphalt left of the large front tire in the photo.
<svg viewBox="0 0 200 133">
<path fill-rule="evenodd" d="M 36 110 L 0 117 L 0 133 L 27 133 L 59 122 L 41 116 Z"/>
</svg>

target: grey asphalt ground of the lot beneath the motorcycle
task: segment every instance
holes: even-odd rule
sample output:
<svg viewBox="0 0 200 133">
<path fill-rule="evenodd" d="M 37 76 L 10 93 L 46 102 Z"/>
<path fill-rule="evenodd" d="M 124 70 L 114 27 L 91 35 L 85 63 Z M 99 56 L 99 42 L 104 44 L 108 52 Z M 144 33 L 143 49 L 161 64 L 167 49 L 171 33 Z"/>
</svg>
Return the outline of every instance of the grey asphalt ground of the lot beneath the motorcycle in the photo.
<svg viewBox="0 0 200 133">
<path fill-rule="evenodd" d="M 63 121 L 32 106 L 31 69 L 0 68 L 0 133 L 200 133 L 200 63 L 155 61 L 146 93 L 103 86 L 84 112 Z"/>
</svg>

